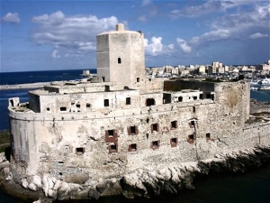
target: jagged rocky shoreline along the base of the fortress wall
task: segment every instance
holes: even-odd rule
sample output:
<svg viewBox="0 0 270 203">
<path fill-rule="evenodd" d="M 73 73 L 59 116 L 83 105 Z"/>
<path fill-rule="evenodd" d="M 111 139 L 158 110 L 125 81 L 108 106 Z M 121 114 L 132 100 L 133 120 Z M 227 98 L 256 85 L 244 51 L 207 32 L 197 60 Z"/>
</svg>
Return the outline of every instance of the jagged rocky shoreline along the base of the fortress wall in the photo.
<svg viewBox="0 0 270 203">
<path fill-rule="evenodd" d="M 2 167 L 0 183 L 1 189 L 7 194 L 29 201 L 97 199 L 117 195 L 125 198 L 153 198 L 162 194 L 176 194 L 181 189 L 194 189 L 193 180 L 200 177 L 246 172 L 269 163 L 270 146 L 257 146 L 233 153 L 220 153 L 208 160 L 138 169 L 122 177 L 85 182 L 81 185 L 50 179 L 48 175 L 33 176 L 31 180 L 23 179 L 20 185 Z"/>
</svg>

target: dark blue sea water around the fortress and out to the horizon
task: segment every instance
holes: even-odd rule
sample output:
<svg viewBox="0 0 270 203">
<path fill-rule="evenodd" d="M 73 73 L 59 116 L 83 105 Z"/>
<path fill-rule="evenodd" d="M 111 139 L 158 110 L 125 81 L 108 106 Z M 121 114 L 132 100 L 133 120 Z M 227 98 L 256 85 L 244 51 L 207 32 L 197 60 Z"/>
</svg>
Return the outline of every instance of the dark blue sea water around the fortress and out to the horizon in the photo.
<svg viewBox="0 0 270 203">
<path fill-rule="evenodd" d="M 96 73 L 96 69 L 90 69 Z M 0 73 L 0 85 L 14 85 L 34 82 L 48 82 L 58 80 L 74 80 L 85 78 L 80 76 L 82 69 L 31 71 Z M 21 102 L 28 101 L 29 89 L 0 90 L 0 131 L 9 128 L 7 105 L 9 97 L 20 97 Z M 251 98 L 257 101 L 270 101 L 270 91 L 251 91 Z M 182 190 L 175 195 L 163 195 L 154 199 L 140 199 L 141 203 L 269 203 L 270 202 L 270 165 L 257 171 L 249 171 L 237 175 L 222 175 L 196 180 L 196 189 Z M 10 197 L 0 189 L 1 203 L 26 203 Z M 76 201 L 83 203 L 86 201 Z M 87 201 L 89 202 L 89 201 Z M 136 199 L 121 197 L 100 198 L 90 200 L 97 203 L 135 203 Z"/>
</svg>

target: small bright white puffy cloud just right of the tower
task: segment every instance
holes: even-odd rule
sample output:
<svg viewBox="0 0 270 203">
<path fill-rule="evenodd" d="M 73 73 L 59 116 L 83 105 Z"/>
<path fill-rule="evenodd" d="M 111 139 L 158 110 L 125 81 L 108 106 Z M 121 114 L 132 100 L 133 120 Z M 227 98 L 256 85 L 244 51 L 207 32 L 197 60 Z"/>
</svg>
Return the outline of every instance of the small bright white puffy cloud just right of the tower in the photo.
<svg viewBox="0 0 270 203">
<path fill-rule="evenodd" d="M 170 54 L 175 51 L 173 44 L 163 45 L 162 37 L 152 37 L 149 43 L 147 39 L 144 39 L 145 53 L 151 56 L 158 56 L 163 54 Z"/>
</svg>

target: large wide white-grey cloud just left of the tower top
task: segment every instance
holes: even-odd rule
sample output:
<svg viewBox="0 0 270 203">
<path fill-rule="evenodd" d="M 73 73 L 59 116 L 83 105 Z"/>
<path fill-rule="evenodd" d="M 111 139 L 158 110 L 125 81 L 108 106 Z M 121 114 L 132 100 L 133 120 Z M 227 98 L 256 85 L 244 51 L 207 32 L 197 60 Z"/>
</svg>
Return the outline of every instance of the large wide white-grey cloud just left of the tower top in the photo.
<svg viewBox="0 0 270 203">
<path fill-rule="evenodd" d="M 101 19 L 94 15 L 66 16 L 58 11 L 34 16 L 32 22 L 38 24 L 38 31 L 31 34 L 33 42 L 39 45 L 50 44 L 55 50 L 76 55 L 95 51 L 96 35 L 114 30 L 118 20 L 114 16 Z"/>
</svg>

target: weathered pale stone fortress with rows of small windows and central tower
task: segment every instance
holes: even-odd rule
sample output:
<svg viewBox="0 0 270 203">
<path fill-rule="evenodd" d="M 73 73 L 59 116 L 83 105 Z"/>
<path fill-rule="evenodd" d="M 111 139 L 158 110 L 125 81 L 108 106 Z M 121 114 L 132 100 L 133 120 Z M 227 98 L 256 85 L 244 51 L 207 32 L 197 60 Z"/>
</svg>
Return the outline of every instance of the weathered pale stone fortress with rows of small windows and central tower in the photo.
<svg viewBox="0 0 270 203">
<path fill-rule="evenodd" d="M 117 24 L 96 37 L 97 81 L 9 99 L 14 182 L 51 198 L 96 198 L 120 194 L 132 171 L 270 143 L 269 122 L 245 124 L 246 80 L 145 78 L 143 39 Z"/>
</svg>

